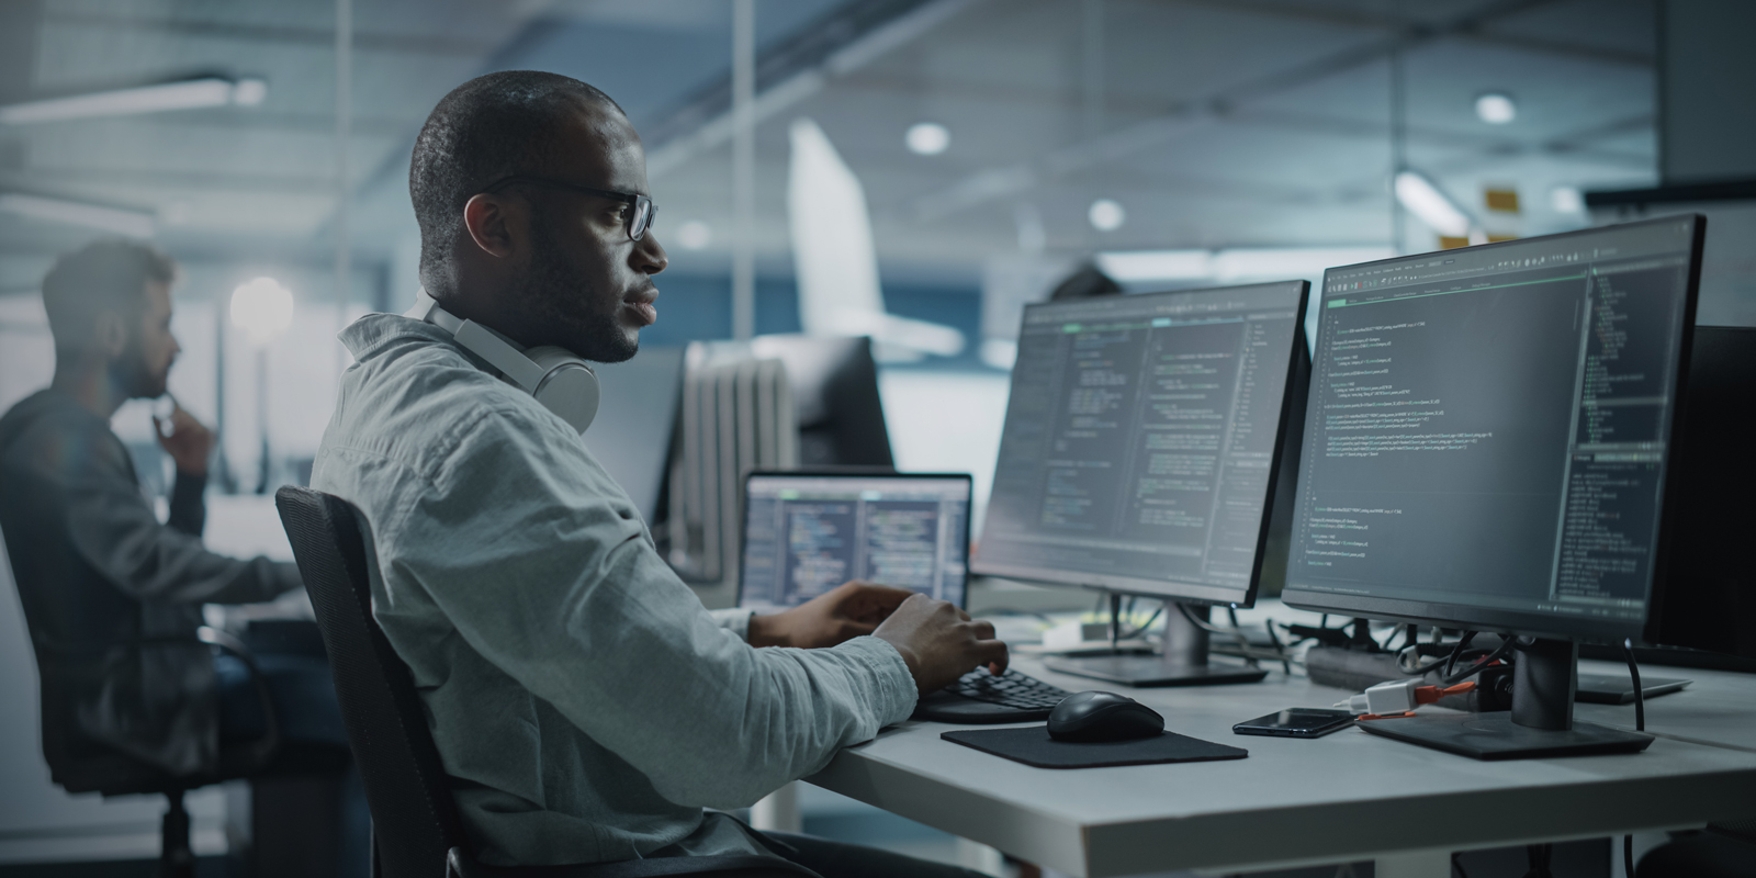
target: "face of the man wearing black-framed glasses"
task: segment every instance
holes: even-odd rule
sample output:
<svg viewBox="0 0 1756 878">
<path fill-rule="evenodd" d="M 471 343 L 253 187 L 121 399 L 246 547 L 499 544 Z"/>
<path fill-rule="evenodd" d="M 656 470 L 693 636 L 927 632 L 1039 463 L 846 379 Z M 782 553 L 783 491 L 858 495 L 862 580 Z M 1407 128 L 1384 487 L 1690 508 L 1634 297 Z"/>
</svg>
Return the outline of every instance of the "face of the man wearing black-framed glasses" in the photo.
<svg viewBox="0 0 1756 878">
<path fill-rule="evenodd" d="M 597 190 L 646 195 L 646 155 L 620 112 L 581 111 L 567 121 L 562 148 L 537 176 Z M 572 190 L 520 186 L 529 193 L 532 253 L 525 309 L 534 337 L 587 360 L 634 356 L 641 328 L 658 320 L 653 274 L 666 267 L 651 230 L 629 239 L 634 205 Z"/>
</svg>

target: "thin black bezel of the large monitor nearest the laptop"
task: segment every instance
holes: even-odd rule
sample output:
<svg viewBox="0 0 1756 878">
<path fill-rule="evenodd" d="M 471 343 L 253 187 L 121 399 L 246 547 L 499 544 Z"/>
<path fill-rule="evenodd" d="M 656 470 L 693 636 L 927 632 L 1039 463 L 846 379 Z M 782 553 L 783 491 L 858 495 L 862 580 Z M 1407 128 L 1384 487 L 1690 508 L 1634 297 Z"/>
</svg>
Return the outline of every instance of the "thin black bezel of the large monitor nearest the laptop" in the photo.
<svg viewBox="0 0 1756 878">
<path fill-rule="evenodd" d="M 1299 369 L 1310 369 L 1310 355 L 1305 342 L 1305 320 L 1310 304 L 1312 283 L 1310 281 L 1268 281 L 1268 283 L 1247 283 L 1231 286 L 1201 286 L 1192 290 L 1159 290 L 1152 293 L 1127 293 L 1129 297 L 1175 297 L 1189 293 L 1222 293 L 1227 290 L 1249 290 L 1252 286 L 1291 286 L 1299 288 L 1299 307 L 1298 316 L 1292 325 L 1292 355 L 1287 358 L 1287 374 L 1284 378 L 1280 393 L 1280 416 L 1275 421 L 1275 451 L 1268 464 L 1268 485 L 1263 495 L 1263 516 L 1256 534 L 1256 557 L 1250 562 L 1250 585 L 1243 588 L 1233 588 L 1224 585 L 1210 583 L 1189 583 L 1180 579 L 1141 579 L 1138 576 L 1113 576 L 1113 574 L 1096 574 L 1096 572 L 1075 572 L 1059 571 L 1054 567 L 1034 567 L 1034 565 L 1010 565 L 1010 564 L 992 564 L 980 558 L 980 551 L 971 551 L 969 571 L 976 576 L 999 576 L 1006 579 L 1036 581 L 1048 585 L 1071 585 L 1078 588 L 1092 588 L 1099 592 L 1126 594 L 1136 597 L 1148 597 L 1154 601 L 1178 601 L 1185 604 L 1198 606 L 1234 606 L 1234 608 L 1252 608 L 1256 606 L 1256 595 L 1263 581 L 1263 564 L 1268 557 L 1268 534 L 1273 522 L 1273 500 L 1278 479 L 1282 476 L 1282 458 L 1289 451 L 1285 435 L 1287 427 L 1291 427 L 1291 413 L 1294 409 L 1294 393 L 1291 388 L 1298 386 Z M 1024 321 L 1029 320 L 1033 311 L 1043 307 L 1059 307 L 1071 302 L 1033 302 L 1024 306 L 1024 314 L 1018 320 L 1018 332 L 1024 334 Z M 1303 356 L 1301 356 L 1303 355 Z M 1010 383 L 1008 383 L 1008 407 L 1010 407 Z M 1292 450 L 1296 453 L 1296 450 Z M 999 462 L 996 462 L 996 469 Z M 992 497 L 989 499 L 992 502 Z M 985 525 L 985 522 L 983 522 Z M 975 546 L 980 550 L 980 543 Z"/>
</svg>

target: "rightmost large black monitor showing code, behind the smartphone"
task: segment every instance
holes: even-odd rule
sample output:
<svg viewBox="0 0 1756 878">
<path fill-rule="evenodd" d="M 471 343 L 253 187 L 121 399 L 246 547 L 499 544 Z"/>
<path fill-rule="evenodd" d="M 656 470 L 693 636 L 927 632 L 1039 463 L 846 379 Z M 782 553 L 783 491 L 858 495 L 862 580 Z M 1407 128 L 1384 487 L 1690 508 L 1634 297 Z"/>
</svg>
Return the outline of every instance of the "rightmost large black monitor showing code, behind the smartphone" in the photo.
<svg viewBox="0 0 1756 878">
<path fill-rule="evenodd" d="M 1510 716 L 1361 727 L 1479 759 L 1651 743 L 1572 720 L 1575 657 L 1652 620 L 1703 228 L 1677 216 L 1324 274 L 1282 599 L 1517 636 Z"/>
</svg>

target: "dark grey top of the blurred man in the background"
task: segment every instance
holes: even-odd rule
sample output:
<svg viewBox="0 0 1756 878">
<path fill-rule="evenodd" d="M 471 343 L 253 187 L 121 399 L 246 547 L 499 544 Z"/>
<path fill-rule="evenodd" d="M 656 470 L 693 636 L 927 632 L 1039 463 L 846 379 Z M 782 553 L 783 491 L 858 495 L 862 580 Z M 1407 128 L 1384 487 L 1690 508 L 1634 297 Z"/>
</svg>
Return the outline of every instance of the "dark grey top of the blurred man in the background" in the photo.
<svg viewBox="0 0 1756 878">
<path fill-rule="evenodd" d="M 204 481 L 177 474 L 162 525 L 126 446 L 76 399 L 42 390 L 0 418 L 0 530 L 37 650 L 51 769 L 105 750 L 177 776 L 216 769 L 202 604 L 269 601 L 299 572 L 204 550 Z"/>
</svg>

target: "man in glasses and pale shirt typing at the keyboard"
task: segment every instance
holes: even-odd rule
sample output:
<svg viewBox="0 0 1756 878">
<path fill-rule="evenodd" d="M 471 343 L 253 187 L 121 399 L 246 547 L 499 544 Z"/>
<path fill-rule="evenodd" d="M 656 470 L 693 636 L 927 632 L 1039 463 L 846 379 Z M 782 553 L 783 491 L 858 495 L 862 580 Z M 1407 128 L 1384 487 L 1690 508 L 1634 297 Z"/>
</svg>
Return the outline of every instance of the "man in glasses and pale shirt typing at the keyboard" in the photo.
<svg viewBox="0 0 1756 878">
<path fill-rule="evenodd" d="M 446 313 L 522 348 L 634 356 L 666 251 L 641 140 L 604 93 L 555 74 L 472 79 L 428 116 L 409 190 L 421 283 Z M 920 692 L 1003 669 L 990 625 L 867 585 L 774 616 L 709 613 L 578 430 L 450 330 L 369 314 L 342 341 L 358 365 L 313 486 L 369 523 L 374 616 L 483 860 L 939 869 L 702 810 L 745 808 L 906 718 Z"/>
</svg>

